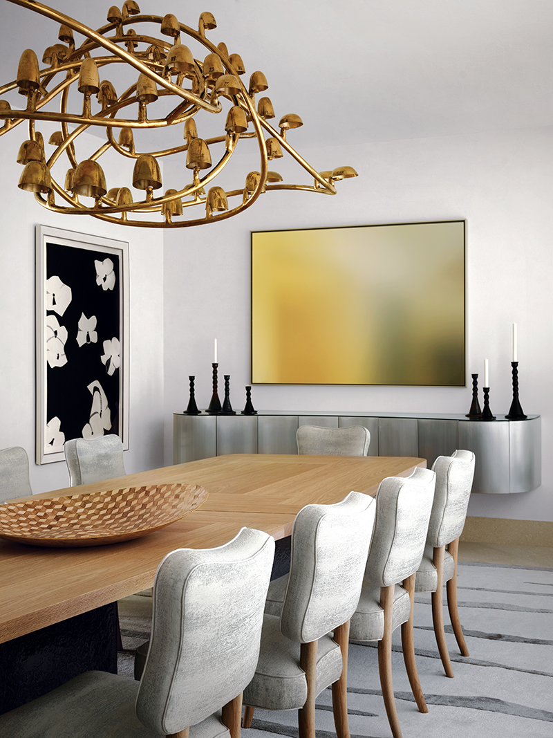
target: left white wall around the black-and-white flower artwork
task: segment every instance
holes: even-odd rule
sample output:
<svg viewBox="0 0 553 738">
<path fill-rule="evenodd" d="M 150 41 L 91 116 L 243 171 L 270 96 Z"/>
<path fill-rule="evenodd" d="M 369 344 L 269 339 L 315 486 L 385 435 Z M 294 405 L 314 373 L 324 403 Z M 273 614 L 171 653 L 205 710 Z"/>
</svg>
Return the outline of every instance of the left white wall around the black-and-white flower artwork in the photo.
<svg viewBox="0 0 553 738">
<path fill-rule="evenodd" d="M 41 126 L 38 128 L 42 130 Z M 45 224 L 129 242 L 130 448 L 128 472 L 163 463 L 163 237 L 161 231 L 114 226 L 88 216 L 56 215 L 19 190 L 18 145 L 23 125 L 0 138 L 0 448 L 23 446 L 35 493 L 69 485 L 65 462 L 35 464 L 35 225 Z M 45 134 L 46 142 L 48 136 Z M 85 134 L 92 150 L 97 138 Z M 53 151 L 46 144 L 47 154 Z M 86 158 L 86 157 L 84 157 Z M 119 182 L 120 163 L 102 160 L 108 187 Z"/>
</svg>

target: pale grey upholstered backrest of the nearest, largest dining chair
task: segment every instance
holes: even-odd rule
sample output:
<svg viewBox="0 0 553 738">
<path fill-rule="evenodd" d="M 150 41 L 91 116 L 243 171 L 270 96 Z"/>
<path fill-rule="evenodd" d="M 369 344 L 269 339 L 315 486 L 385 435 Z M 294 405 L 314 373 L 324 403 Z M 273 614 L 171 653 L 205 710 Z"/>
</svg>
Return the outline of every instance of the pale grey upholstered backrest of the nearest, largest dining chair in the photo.
<svg viewBox="0 0 553 738">
<path fill-rule="evenodd" d="M 136 714 L 161 735 L 195 725 L 254 677 L 274 539 L 242 528 L 219 548 L 179 548 L 153 587 L 150 650 Z"/>
</svg>

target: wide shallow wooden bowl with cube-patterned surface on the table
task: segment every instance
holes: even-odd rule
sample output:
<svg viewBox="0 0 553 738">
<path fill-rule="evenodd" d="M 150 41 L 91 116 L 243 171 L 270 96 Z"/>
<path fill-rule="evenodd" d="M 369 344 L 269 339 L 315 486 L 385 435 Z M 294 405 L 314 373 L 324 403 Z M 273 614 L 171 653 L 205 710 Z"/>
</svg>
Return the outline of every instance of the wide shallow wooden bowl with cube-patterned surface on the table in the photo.
<svg viewBox="0 0 553 738">
<path fill-rule="evenodd" d="M 198 484 L 159 484 L 0 505 L 0 536 L 75 548 L 128 541 L 175 523 L 207 499 Z"/>
</svg>

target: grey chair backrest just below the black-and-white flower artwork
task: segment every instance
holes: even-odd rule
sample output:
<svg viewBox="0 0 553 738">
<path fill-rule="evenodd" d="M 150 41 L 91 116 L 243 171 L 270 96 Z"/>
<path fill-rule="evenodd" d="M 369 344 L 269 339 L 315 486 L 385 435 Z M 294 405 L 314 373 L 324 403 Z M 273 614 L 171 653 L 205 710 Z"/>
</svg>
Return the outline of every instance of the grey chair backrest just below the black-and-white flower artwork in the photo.
<svg viewBox="0 0 553 738">
<path fill-rule="evenodd" d="M 124 477 L 123 444 L 118 435 L 73 438 L 63 446 L 71 486 Z"/>
</svg>

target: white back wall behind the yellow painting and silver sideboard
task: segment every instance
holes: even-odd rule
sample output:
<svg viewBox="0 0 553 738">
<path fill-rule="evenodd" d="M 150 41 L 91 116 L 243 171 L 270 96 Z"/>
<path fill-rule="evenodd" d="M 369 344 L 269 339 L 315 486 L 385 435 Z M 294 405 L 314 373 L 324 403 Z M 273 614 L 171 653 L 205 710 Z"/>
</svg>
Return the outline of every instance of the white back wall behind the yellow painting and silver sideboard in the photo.
<svg viewBox="0 0 553 738">
<path fill-rule="evenodd" d="M 165 235 L 165 463 L 173 454 L 172 413 L 187 405 L 189 374 L 196 376 L 198 406 L 209 403 L 214 337 L 220 374 L 231 375 L 233 407 L 245 401 L 251 230 L 466 218 L 469 382 L 489 358 L 490 406 L 507 413 L 511 325 L 518 323 L 521 404 L 542 415 L 543 435 L 543 486 L 473 495 L 469 514 L 553 520 L 553 128 L 298 150 L 318 170 L 350 164 L 360 176 L 338 183 L 335 197 L 268 193 L 221 224 Z M 250 168 L 258 167 L 252 161 Z M 166 179 L 177 172 L 167 169 Z M 300 173 L 296 181 L 306 179 Z M 254 386 L 252 399 L 259 410 L 467 413 L 471 393 Z"/>
</svg>

